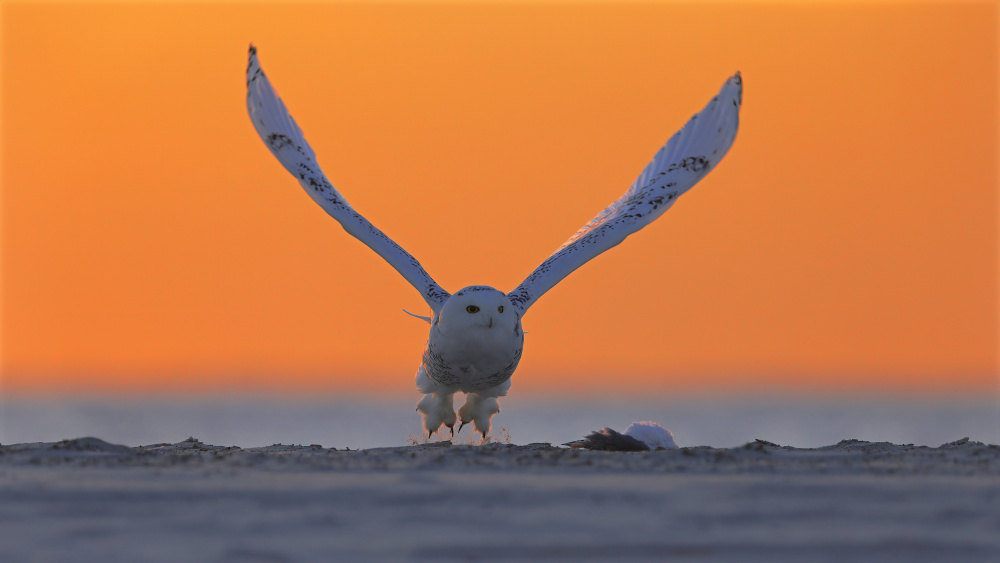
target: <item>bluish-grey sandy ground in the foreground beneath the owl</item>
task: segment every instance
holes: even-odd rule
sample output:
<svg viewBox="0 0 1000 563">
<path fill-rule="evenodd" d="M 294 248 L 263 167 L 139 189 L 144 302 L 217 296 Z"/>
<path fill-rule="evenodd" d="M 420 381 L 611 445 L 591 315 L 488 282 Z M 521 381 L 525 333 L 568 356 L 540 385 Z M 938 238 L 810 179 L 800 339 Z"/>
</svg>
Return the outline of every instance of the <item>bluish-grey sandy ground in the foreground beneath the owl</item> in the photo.
<svg viewBox="0 0 1000 563">
<path fill-rule="evenodd" d="M 1000 561 L 1000 447 L 0 446 L 0 561 Z"/>
</svg>

